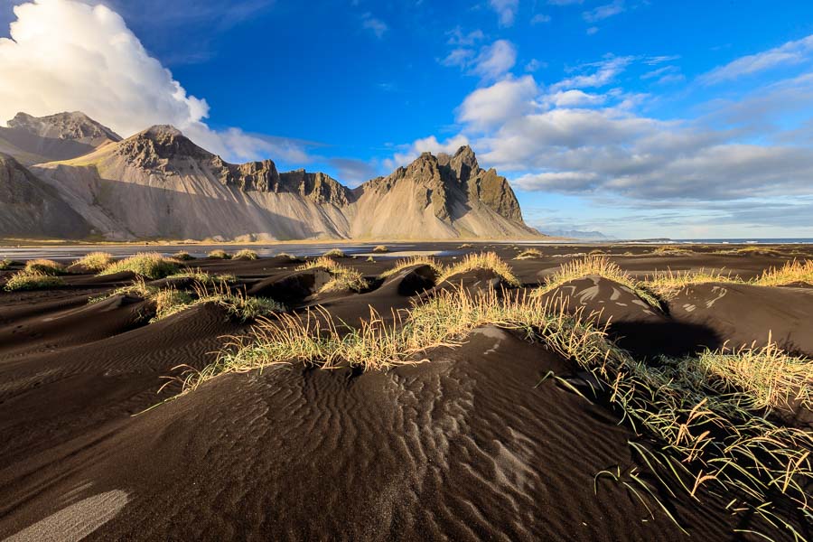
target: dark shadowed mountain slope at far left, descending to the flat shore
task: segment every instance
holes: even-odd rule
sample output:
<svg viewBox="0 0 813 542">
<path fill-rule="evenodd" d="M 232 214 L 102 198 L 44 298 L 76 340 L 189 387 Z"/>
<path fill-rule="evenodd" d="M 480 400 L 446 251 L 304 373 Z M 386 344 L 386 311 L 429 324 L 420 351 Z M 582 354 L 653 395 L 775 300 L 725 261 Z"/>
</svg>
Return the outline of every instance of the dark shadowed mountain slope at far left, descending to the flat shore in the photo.
<svg viewBox="0 0 813 542">
<path fill-rule="evenodd" d="M 89 223 L 57 191 L 0 154 L 0 234 L 24 238 L 86 238 Z"/>
</svg>

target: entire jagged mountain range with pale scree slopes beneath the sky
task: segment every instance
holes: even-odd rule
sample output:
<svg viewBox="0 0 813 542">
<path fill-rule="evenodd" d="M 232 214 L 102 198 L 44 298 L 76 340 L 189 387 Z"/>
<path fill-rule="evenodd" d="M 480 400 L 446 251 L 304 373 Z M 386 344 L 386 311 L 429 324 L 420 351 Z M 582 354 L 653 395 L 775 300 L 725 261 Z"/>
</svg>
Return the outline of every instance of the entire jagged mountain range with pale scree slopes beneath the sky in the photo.
<svg viewBox="0 0 813 542">
<path fill-rule="evenodd" d="M 536 238 L 469 146 L 350 189 L 325 173 L 229 164 L 173 126 L 122 139 L 80 112 L 0 127 L 0 237 L 284 240 Z"/>
</svg>

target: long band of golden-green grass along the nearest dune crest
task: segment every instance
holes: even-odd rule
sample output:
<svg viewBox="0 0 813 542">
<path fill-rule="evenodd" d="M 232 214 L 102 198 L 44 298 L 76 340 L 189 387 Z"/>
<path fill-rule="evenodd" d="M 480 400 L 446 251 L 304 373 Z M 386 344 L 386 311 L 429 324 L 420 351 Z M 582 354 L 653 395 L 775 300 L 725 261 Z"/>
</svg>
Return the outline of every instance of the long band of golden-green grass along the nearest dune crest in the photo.
<svg viewBox="0 0 813 542">
<path fill-rule="evenodd" d="M 541 342 L 591 373 L 593 394 L 585 393 L 618 412 L 636 435 L 629 442 L 631 453 L 635 469 L 646 476 L 634 477 L 627 487 L 653 516 L 652 510 L 660 510 L 679 526 L 670 500 L 703 502 L 714 494 L 717 502 L 730 501 L 726 509 L 739 516 L 735 525 L 768 538 L 798 535 L 794 525 L 810 513 L 813 434 L 776 425 L 767 414 L 808 381 L 811 361 L 790 359 L 779 350 L 740 350 L 650 366 L 618 348 L 594 322 L 592 315 L 566 313 L 561 299 L 543 302 L 493 290 L 473 295 L 463 288 L 439 292 L 397 313 L 395 322 L 371 309 L 359 329 L 317 307 L 260 322 L 251 337 L 235 339 L 210 366 L 187 374 L 183 389 L 191 391 L 223 373 L 292 362 L 365 370 L 421 363 L 432 349 L 453 348 L 474 329 L 496 325 Z M 750 363 L 762 365 L 748 370 Z M 539 385 L 546 380 L 567 387 L 556 376 Z"/>
</svg>

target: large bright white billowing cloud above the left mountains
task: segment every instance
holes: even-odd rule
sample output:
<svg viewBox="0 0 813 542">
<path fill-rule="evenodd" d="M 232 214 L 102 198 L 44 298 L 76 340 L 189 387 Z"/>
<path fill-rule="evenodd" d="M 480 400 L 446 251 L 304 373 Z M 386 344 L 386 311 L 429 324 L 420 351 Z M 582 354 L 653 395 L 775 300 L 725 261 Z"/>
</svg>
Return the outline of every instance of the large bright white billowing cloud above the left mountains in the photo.
<svg viewBox="0 0 813 542">
<path fill-rule="evenodd" d="M 44 116 L 80 110 L 124 136 L 171 124 L 229 158 L 276 150 L 304 157 L 293 143 L 270 145 L 239 130 L 210 130 L 206 101 L 189 96 L 105 5 L 34 0 L 14 7 L 14 14 L 11 39 L 0 39 L 0 122 L 18 111 Z"/>
</svg>

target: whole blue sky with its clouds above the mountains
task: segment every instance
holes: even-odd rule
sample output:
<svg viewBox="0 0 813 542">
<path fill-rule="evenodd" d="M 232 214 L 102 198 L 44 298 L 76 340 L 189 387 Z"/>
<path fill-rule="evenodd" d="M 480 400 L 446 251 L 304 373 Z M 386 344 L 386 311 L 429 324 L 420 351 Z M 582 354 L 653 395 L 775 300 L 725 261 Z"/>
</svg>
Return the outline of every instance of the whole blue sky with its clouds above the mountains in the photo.
<svg viewBox="0 0 813 542">
<path fill-rule="evenodd" d="M 813 237 L 811 2 L 20 4 L 0 0 L 3 114 L 167 122 L 350 185 L 468 143 L 542 230 Z"/>
</svg>

